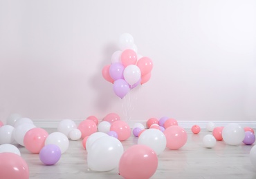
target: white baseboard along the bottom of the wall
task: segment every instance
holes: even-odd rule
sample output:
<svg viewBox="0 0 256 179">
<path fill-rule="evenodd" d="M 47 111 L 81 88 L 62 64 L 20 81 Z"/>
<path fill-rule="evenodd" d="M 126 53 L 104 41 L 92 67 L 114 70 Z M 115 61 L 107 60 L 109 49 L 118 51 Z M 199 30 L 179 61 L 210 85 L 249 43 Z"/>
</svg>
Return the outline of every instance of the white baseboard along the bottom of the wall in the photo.
<svg viewBox="0 0 256 179">
<path fill-rule="evenodd" d="M 57 128 L 58 124 L 62 119 L 33 119 L 35 126 L 42 127 L 42 128 Z M 72 119 L 77 126 L 82 122 L 82 119 Z M 178 121 L 179 126 L 183 127 L 184 129 L 191 129 L 193 125 L 199 125 L 201 129 L 205 129 L 206 125 L 212 122 L 214 126 L 225 126 L 229 123 L 238 123 L 241 127 L 251 127 L 256 128 L 256 121 L 190 121 L 190 120 L 182 120 Z M 132 128 L 135 123 L 142 123 L 146 127 L 146 121 L 127 121 L 129 126 Z"/>
</svg>

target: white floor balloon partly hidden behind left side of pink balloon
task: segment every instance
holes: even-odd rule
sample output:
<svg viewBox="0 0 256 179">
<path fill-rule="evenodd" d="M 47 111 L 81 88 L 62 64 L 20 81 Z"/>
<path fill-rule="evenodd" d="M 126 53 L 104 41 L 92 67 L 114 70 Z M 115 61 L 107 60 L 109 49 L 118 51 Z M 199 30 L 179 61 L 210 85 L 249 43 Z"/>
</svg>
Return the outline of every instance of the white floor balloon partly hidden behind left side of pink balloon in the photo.
<svg viewBox="0 0 256 179">
<path fill-rule="evenodd" d="M 27 131 L 29 131 L 30 129 L 35 128 L 35 125 L 32 124 L 21 124 L 18 125 L 14 130 L 13 130 L 13 135 L 15 138 L 15 141 L 19 144 L 24 146 L 24 136 L 26 134 Z"/>
</svg>

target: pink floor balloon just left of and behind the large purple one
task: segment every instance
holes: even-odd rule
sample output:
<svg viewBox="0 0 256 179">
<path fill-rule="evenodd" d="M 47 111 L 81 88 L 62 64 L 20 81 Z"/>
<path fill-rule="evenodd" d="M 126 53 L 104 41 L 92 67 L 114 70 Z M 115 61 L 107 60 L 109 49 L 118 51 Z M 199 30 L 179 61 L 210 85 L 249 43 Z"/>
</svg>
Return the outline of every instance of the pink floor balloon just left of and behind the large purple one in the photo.
<svg viewBox="0 0 256 179">
<path fill-rule="evenodd" d="M 24 136 L 24 146 L 33 154 L 39 154 L 44 147 L 48 132 L 45 129 L 35 127 L 26 132 Z"/>
</svg>

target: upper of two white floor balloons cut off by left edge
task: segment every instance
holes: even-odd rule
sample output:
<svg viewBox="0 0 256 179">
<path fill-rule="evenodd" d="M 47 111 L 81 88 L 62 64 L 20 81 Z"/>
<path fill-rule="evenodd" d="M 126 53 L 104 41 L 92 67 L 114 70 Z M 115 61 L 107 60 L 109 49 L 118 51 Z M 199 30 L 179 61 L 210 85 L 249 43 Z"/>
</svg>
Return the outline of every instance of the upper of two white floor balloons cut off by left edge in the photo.
<svg viewBox="0 0 256 179">
<path fill-rule="evenodd" d="M 0 145 L 1 144 L 11 144 L 15 140 L 13 136 L 13 131 L 15 127 L 11 125 L 3 125 L 0 127 Z"/>
</svg>

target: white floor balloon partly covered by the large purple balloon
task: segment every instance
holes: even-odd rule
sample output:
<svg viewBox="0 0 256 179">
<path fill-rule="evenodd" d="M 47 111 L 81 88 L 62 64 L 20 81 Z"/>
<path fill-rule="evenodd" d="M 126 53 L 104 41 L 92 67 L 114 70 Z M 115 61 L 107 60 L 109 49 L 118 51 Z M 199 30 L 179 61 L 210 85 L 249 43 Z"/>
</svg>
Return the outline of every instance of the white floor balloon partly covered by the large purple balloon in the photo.
<svg viewBox="0 0 256 179">
<path fill-rule="evenodd" d="M 69 140 L 68 140 L 67 136 L 65 136 L 65 134 L 63 134 L 59 131 L 55 131 L 48 135 L 44 144 L 45 145 L 48 145 L 48 144 L 57 145 L 58 147 L 60 147 L 60 151 L 63 154 L 68 149 Z"/>
</svg>

